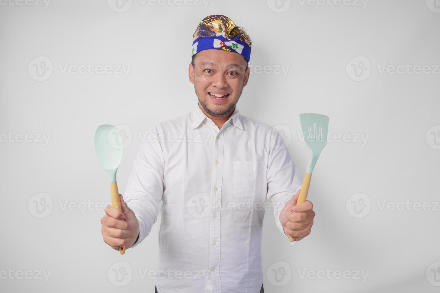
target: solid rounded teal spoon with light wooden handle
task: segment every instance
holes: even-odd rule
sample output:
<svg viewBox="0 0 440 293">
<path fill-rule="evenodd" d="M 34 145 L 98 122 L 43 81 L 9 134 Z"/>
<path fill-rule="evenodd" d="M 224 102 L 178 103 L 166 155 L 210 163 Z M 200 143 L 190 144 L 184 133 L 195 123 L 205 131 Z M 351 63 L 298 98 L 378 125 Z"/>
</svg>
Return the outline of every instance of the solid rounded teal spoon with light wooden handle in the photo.
<svg viewBox="0 0 440 293">
<path fill-rule="evenodd" d="M 117 190 L 116 171 L 121 163 L 123 149 L 117 149 L 110 145 L 109 139 L 116 139 L 113 133 L 119 133 L 117 129 L 110 124 L 99 125 L 95 132 L 94 146 L 95 153 L 99 163 L 106 169 L 110 176 L 110 190 L 112 205 L 121 211 L 121 202 L 119 200 L 119 191 Z M 121 254 L 125 253 L 125 245 L 119 247 Z"/>
</svg>

